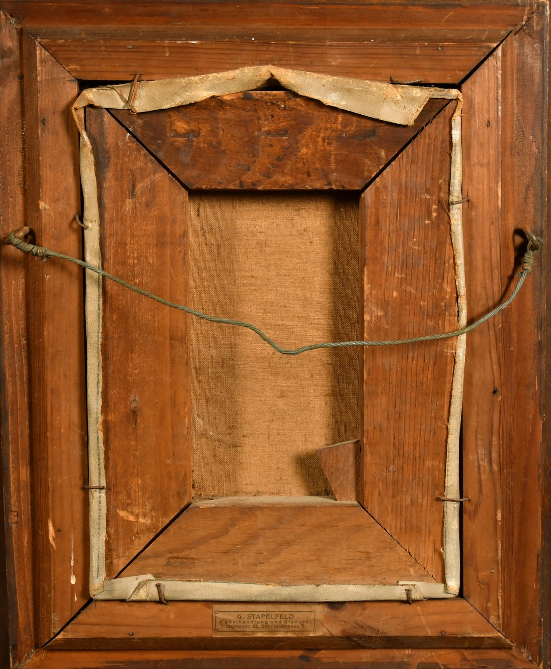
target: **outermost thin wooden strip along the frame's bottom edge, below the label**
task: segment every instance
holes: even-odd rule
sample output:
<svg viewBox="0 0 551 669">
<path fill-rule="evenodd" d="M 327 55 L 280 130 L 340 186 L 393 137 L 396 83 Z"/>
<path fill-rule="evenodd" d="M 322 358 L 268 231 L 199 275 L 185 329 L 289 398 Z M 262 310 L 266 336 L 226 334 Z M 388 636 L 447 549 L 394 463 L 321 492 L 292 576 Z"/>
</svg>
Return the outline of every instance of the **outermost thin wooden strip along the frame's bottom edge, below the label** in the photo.
<svg viewBox="0 0 551 669">
<path fill-rule="evenodd" d="M 40 650 L 29 669 L 534 669 L 518 650 Z"/>
</svg>

